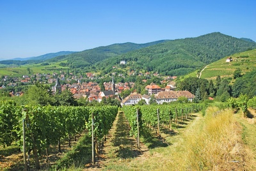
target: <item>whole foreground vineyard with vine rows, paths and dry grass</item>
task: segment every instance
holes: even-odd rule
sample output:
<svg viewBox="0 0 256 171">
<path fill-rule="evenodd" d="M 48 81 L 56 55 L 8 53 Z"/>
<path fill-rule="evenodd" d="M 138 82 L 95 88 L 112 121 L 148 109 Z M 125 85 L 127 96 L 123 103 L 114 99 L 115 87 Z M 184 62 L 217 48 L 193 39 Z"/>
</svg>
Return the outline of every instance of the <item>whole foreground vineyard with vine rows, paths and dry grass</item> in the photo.
<svg viewBox="0 0 256 171">
<path fill-rule="evenodd" d="M 233 162 L 231 159 L 238 158 L 240 154 L 230 153 L 234 152 L 233 142 L 236 142 L 236 147 L 243 147 L 239 136 L 237 137 L 241 126 L 233 118 L 233 110 L 227 108 L 228 103 L 216 103 L 214 106 L 204 103 L 172 103 L 125 106 L 118 110 L 118 107 L 113 106 L 17 106 L 14 101 L 1 101 L 0 161 L 3 161 L 1 157 L 10 155 L 12 150 L 7 151 L 14 147 L 19 149 L 19 154 L 24 154 L 21 158 L 26 164 L 22 162 L 19 167 L 6 168 L 0 165 L 0 168 L 168 170 L 169 166 L 172 166 L 183 170 L 188 166 L 201 168 L 196 164 L 201 161 L 206 162 L 202 163 L 202 166 L 207 168 L 213 168 L 215 163 L 234 168 L 232 163 L 225 163 L 226 158 L 213 155 L 215 151 L 222 152 L 223 156 L 230 158 L 228 162 Z M 191 121 L 193 124 L 190 124 Z M 218 129 L 214 126 L 218 126 Z M 221 129 L 224 126 L 225 129 Z M 113 127 L 117 130 L 113 130 Z M 232 132 L 234 135 L 230 135 L 233 128 L 236 128 L 236 131 Z M 219 134 L 220 130 L 223 134 Z M 111 137 L 109 132 L 112 132 L 110 134 L 114 137 Z M 226 151 L 221 146 L 215 147 L 214 144 L 220 140 L 214 137 L 212 139 L 210 132 L 214 136 L 222 136 L 223 145 L 228 143 L 230 147 Z M 204 141 L 195 137 L 203 137 Z M 77 143 L 74 144 L 76 140 Z M 213 140 L 215 143 L 211 143 Z M 64 144 L 70 147 L 69 151 L 65 151 Z M 60 154 L 65 154 L 45 168 L 44 164 L 51 162 L 48 161 L 48 156 L 52 155 L 52 148 Z M 205 151 L 209 151 L 208 156 Z M 200 158 L 198 152 L 202 155 Z M 186 160 L 183 161 L 182 158 Z M 207 163 L 208 158 L 214 162 Z M 155 160 L 157 165 L 152 164 Z M 240 157 L 241 163 L 237 164 L 236 168 L 243 168 L 244 160 L 248 158 Z M 179 165 L 178 162 L 185 162 L 186 165 Z"/>
</svg>

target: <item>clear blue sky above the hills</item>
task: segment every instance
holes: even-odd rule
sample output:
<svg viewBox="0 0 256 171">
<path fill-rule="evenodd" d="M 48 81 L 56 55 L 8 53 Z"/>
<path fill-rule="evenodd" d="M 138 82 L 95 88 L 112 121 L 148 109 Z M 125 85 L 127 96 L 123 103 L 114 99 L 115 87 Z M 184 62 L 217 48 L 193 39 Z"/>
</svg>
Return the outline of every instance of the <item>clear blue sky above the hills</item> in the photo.
<svg viewBox="0 0 256 171">
<path fill-rule="evenodd" d="M 255 7 L 255 0 L 0 0 L 0 59 L 212 32 L 256 41 Z"/>
</svg>

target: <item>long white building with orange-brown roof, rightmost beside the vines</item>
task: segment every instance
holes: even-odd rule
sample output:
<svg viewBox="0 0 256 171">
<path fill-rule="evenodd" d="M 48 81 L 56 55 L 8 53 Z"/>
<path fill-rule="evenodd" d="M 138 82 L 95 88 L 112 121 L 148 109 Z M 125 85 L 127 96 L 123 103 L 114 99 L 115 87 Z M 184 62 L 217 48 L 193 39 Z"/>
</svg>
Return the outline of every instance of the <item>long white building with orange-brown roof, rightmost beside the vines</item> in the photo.
<svg viewBox="0 0 256 171">
<path fill-rule="evenodd" d="M 188 101 L 192 101 L 195 98 L 195 95 L 189 91 L 161 91 L 156 94 L 156 103 L 162 105 L 164 102 L 177 101 L 182 96 L 188 98 Z"/>
</svg>

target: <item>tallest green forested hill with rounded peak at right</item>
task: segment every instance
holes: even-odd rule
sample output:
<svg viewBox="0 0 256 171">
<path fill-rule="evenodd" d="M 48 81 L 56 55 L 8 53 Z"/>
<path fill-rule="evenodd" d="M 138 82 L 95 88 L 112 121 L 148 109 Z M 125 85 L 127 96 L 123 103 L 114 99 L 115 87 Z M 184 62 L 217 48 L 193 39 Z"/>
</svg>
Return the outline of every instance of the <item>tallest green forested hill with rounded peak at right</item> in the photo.
<svg viewBox="0 0 256 171">
<path fill-rule="evenodd" d="M 132 70 L 158 71 L 164 75 L 185 75 L 225 56 L 256 48 L 255 42 L 221 33 L 165 41 L 100 61 L 94 67 L 110 70 L 120 60 Z"/>
</svg>

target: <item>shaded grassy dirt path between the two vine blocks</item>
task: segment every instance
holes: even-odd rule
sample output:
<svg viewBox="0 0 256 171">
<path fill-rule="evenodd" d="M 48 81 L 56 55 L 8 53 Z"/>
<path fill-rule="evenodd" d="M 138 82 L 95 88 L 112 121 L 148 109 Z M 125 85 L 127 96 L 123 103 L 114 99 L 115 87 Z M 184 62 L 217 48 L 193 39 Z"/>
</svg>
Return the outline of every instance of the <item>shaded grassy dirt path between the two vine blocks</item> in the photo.
<svg viewBox="0 0 256 171">
<path fill-rule="evenodd" d="M 140 143 L 140 149 L 138 149 L 136 139 L 129 135 L 130 130 L 124 112 L 118 112 L 95 165 L 86 165 L 84 170 L 102 170 L 104 167 L 108 167 L 108 164 L 137 158 L 148 151 L 147 146 L 143 143 Z"/>
</svg>

